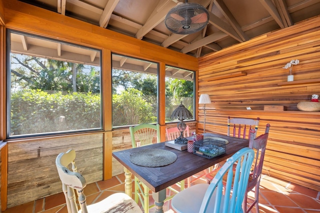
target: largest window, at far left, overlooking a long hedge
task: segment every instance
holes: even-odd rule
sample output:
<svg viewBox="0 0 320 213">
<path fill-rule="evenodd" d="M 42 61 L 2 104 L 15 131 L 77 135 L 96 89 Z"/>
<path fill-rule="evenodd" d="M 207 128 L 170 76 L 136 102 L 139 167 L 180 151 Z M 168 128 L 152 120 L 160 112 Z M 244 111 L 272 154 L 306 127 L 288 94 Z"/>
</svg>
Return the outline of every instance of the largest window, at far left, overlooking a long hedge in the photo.
<svg viewBox="0 0 320 213">
<path fill-rule="evenodd" d="M 101 129 L 100 51 L 9 31 L 7 137 Z"/>
</svg>

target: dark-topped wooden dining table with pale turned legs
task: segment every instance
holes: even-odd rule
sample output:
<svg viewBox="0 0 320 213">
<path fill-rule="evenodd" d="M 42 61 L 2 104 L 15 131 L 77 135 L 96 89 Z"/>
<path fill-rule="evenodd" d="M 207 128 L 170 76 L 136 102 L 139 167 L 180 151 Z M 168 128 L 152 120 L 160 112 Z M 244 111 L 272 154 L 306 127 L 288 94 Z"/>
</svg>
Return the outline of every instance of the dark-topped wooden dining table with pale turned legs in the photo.
<svg viewBox="0 0 320 213">
<path fill-rule="evenodd" d="M 163 212 L 163 202 L 166 198 L 166 188 L 192 176 L 204 169 L 207 169 L 216 163 L 219 163 L 232 156 L 236 151 L 249 144 L 248 139 L 226 136 L 217 133 L 203 133 L 204 138 L 214 137 L 222 138 L 225 141 L 225 153 L 213 158 L 194 154 L 185 150 L 178 150 L 165 145 L 165 142 L 153 143 L 150 145 L 120 150 L 112 152 L 112 156 L 124 166 L 125 175 L 125 193 L 132 194 L 132 177 L 135 175 L 149 189 L 152 190 L 154 199 L 154 212 Z M 176 160 L 163 166 L 141 166 L 131 162 L 131 156 L 140 153 L 143 149 L 161 149 L 175 153 Z M 149 159 L 151 160 L 151 159 Z M 192 200 L 190 200 L 192 202 Z"/>
</svg>

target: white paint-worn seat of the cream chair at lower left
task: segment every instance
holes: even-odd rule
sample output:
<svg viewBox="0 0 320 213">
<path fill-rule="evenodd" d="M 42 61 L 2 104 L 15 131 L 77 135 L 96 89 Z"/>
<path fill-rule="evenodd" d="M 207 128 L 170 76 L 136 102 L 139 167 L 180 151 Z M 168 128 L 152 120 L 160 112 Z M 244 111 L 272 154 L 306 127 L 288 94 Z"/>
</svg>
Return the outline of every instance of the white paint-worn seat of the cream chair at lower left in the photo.
<svg viewBox="0 0 320 213">
<path fill-rule="evenodd" d="M 142 212 L 141 208 L 131 197 L 121 192 L 111 194 L 105 199 L 86 207 L 89 213 Z M 81 209 L 78 213 L 82 213 Z"/>
</svg>

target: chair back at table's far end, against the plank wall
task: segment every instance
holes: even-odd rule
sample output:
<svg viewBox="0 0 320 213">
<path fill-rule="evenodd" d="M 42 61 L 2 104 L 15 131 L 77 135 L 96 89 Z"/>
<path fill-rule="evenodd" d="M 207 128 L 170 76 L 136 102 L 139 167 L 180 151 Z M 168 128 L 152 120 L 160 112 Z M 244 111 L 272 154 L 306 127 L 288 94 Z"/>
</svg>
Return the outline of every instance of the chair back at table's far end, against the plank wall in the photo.
<svg viewBox="0 0 320 213">
<path fill-rule="evenodd" d="M 259 117 L 257 117 L 256 120 L 254 120 L 250 118 L 230 118 L 230 116 L 228 116 L 227 135 L 248 139 L 249 130 L 251 128 L 254 128 L 255 129 L 254 137 L 255 137 L 256 132 L 258 130 L 259 119 L 260 119 Z M 232 135 L 230 135 L 231 130 L 232 130 Z"/>
</svg>

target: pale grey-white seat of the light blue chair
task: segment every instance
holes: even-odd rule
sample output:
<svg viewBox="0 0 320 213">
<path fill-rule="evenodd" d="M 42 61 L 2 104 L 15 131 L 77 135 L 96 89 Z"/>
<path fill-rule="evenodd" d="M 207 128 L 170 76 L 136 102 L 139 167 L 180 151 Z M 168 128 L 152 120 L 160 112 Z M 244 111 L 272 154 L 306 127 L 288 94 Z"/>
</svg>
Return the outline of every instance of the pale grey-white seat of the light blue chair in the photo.
<svg viewBox="0 0 320 213">
<path fill-rule="evenodd" d="M 183 213 L 195 213 L 199 212 L 204 194 L 206 189 L 209 187 L 207 183 L 198 183 L 196 185 L 192 185 L 182 191 L 179 192 L 178 196 L 175 195 L 172 198 L 171 206 L 176 212 L 183 212 Z M 214 199 L 215 199 L 214 191 L 212 193 L 212 197 L 210 198 L 208 210 L 206 212 L 212 212 L 214 208 Z M 224 201 L 224 196 L 221 197 L 221 203 Z M 192 205 L 186 205 L 185 203 L 192 202 Z M 222 208 L 221 211 L 222 212 Z"/>
</svg>

